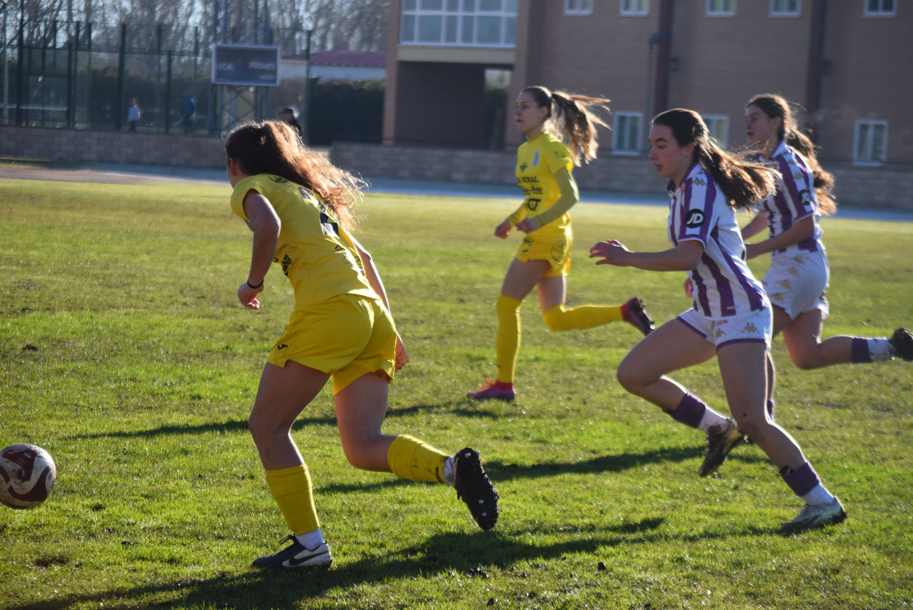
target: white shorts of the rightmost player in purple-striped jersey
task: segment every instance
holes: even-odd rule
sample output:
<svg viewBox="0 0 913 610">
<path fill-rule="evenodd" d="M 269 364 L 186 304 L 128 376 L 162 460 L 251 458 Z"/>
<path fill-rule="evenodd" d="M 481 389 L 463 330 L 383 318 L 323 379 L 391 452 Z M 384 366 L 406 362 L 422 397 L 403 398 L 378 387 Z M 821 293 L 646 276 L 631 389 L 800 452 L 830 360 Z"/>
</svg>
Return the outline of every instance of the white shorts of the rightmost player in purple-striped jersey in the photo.
<svg viewBox="0 0 913 610">
<path fill-rule="evenodd" d="M 790 320 L 813 310 L 821 310 L 824 320 L 829 310 L 824 290 L 830 275 L 824 250 L 797 252 L 792 256 L 774 255 L 761 283 L 771 305 L 785 311 Z"/>
</svg>

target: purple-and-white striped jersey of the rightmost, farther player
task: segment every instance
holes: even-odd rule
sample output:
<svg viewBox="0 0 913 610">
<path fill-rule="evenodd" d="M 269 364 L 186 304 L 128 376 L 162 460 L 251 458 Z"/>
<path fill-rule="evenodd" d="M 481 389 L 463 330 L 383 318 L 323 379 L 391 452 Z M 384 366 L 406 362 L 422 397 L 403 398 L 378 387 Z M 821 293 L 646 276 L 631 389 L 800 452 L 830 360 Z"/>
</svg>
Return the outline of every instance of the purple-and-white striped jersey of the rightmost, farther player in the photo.
<svg viewBox="0 0 913 610">
<path fill-rule="evenodd" d="M 821 236 L 824 231 L 818 226 L 818 195 L 814 189 L 814 174 L 808 167 L 808 162 L 803 156 L 786 144 L 780 142 L 777 150 L 771 154 L 770 159 L 764 159 L 761 154 L 755 160 L 764 163 L 780 172 L 777 178 L 777 190 L 773 195 L 761 201 L 761 211 L 767 212 L 767 226 L 770 228 L 771 237 L 780 235 L 792 227 L 796 222 L 814 216 L 814 232 L 810 237 L 773 252 L 773 256 L 785 253 L 793 256 L 797 252 L 817 252 L 824 249 Z"/>
</svg>

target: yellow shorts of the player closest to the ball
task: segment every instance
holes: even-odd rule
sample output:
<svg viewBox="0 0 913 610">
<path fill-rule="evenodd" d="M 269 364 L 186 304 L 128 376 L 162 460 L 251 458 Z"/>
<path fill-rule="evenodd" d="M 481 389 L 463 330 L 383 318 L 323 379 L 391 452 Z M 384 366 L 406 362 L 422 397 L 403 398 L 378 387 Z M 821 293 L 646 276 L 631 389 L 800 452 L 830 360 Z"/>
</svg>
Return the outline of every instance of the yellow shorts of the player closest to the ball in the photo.
<svg viewBox="0 0 913 610">
<path fill-rule="evenodd" d="M 292 312 L 268 363 L 293 360 L 333 377 L 333 395 L 363 374 L 394 378 L 396 327 L 383 301 L 341 294 Z"/>
</svg>

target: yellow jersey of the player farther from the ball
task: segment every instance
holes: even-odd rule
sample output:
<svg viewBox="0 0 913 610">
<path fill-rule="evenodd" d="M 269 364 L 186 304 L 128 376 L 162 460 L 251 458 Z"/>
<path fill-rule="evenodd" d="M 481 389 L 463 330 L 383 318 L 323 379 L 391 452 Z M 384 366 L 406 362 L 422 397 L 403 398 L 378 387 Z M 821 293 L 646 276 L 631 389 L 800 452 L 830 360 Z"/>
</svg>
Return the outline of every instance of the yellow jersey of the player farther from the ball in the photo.
<svg viewBox="0 0 913 610">
<path fill-rule="evenodd" d="M 558 201 L 561 191 L 554 175 L 561 168 L 573 170 L 571 152 L 555 134 L 542 131 L 517 149 L 517 184 L 523 189 L 522 207 L 510 216 L 514 225 L 525 217 L 540 215 Z M 540 226 L 530 236 L 564 235 L 571 230 L 571 216 L 566 213 L 546 226 Z"/>
</svg>

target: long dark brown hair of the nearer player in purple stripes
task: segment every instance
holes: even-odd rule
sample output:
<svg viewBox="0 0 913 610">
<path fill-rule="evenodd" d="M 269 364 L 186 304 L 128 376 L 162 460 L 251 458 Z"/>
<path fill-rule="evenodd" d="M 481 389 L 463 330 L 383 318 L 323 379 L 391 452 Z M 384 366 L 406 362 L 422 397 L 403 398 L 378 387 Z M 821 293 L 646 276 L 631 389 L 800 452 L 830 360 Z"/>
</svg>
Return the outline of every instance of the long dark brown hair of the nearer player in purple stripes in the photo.
<svg viewBox="0 0 913 610">
<path fill-rule="evenodd" d="M 666 110 L 653 117 L 650 124 L 666 125 L 679 146 L 694 144 L 698 163 L 719 184 L 719 190 L 726 195 L 726 203 L 732 207 L 750 211 L 776 190 L 775 170 L 719 148 L 710 139 L 707 124 L 694 110 Z"/>
</svg>

